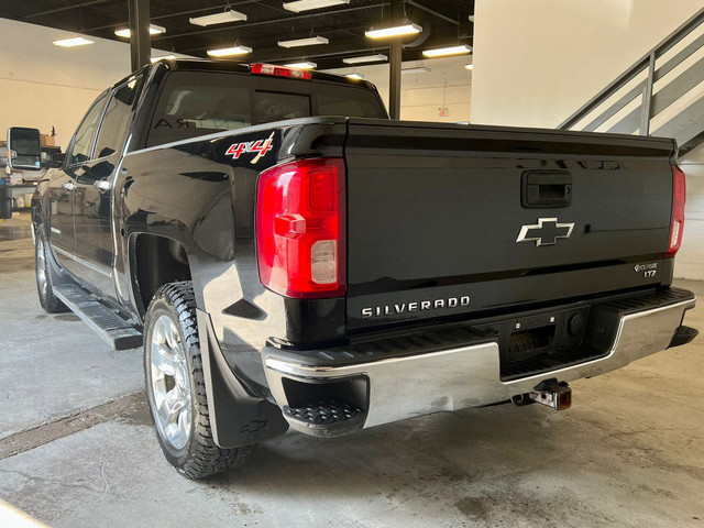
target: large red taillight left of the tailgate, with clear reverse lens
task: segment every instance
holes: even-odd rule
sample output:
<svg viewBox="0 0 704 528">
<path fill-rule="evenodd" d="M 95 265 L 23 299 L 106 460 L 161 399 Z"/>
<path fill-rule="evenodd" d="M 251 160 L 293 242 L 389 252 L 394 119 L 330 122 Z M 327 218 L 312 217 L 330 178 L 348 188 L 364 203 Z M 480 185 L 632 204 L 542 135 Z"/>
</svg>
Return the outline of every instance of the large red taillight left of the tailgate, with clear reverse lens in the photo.
<svg viewBox="0 0 704 528">
<path fill-rule="evenodd" d="M 344 162 L 302 160 L 260 175 L 260 279 L 287 297 L 344 295 Z"/>
</svg>

